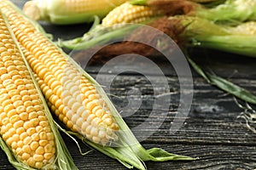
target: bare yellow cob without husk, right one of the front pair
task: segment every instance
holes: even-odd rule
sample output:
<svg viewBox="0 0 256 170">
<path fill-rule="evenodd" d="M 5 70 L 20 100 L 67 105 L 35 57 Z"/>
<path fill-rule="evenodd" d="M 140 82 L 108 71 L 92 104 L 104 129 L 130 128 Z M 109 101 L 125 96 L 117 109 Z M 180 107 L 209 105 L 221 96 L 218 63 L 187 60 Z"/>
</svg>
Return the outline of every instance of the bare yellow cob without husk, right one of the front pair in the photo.
<svg viewBox="0 0 256 170">
<path fill-rule="evenodd" d="M 67 127 L 98 144 L 116 140 L 119 129 L 101 94 L 63 57 L 53 43 L 17 14 L 7 1 L 0 4 L 22 47 L 39 86 L 55 115 Z"/>
</svg>

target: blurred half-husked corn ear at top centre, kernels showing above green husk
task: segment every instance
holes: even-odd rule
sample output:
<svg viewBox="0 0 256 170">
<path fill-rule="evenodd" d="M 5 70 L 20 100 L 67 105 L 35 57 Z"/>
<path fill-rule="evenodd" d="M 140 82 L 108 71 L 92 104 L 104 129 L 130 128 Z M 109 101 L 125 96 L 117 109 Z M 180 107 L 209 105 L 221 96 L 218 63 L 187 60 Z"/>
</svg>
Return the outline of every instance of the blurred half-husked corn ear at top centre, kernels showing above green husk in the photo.
<svg viewBox="0 0 256 170">
<path fill-rule="evenodd" d="M 70 49 L 85 49 L 94 45 L 103 45 L 109 41 L 119 41 L 119 37 L 125 37 L 126 34 L 139 26 L 129 24 L 145 24 L 160 17 L 160 15 L 162 15 L 160 11 L 148 6 L 133 5 L 130 2 L 123 3 L 109 12 L 102 19 L 102 24 L 99 25 L 98 20 L 95 20 L 96 26 L 92 26 L 90 31 L 84 33 L 83 37 L 67 41 L 59 40 L 58 46 Z"/>
</svg>

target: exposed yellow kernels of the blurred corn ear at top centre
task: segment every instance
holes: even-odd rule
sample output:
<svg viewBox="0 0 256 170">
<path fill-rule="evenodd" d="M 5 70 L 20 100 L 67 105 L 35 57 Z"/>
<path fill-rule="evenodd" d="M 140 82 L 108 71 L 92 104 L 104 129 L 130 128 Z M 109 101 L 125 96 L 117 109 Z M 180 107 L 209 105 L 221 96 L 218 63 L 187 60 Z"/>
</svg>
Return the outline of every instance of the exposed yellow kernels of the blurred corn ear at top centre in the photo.
<svg viewBox="0 0 256 170">
<path fill-rule="evenodd" d="M 132 5 L 131 3 L 123 3 L 119 7 L 110 11 L 105 18 L 102 19 L 102 26 L 113 26 L 115 24 L 125 23 L 141 23 L 160 13 L 148 6 Z"/>
</svg>

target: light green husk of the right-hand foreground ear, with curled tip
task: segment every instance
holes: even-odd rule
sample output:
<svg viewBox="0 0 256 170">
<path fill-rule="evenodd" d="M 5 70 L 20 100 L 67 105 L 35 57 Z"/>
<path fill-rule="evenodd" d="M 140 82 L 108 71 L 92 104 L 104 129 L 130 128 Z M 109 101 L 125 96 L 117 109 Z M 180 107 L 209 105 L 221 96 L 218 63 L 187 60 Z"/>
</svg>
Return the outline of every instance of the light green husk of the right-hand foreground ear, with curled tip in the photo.
<svg viewBox="0 0 256 170">
<path fill-rule="evenodd" d="M 17 8 L 16 8 L 17 9 Z M 25 15 L 20 13 L 20 10 L 16 10 L 19 14 L 27 19 Z M 38 23 L 31 22 L 33 26 L 38 28 L 38 31 L 42 30 Z M 42 32 L 44 34 L 44 31 Z M 50 40 L 49 40 L 50 41 Z M 60 48 L 61 50 L 61 48 Z M 126 125 L 122 117 L 119 115 L 119 112 L 116 111 L 113 103 L 108 99 L 107 94 L 105 94 L 102 87 L 92 78 L 88 73 L 81 68 L 72 58 L 70 58 L 67 54 L 61 51 L 63 56 L 65 56 L 73 65 L 75 65 L 79 71 L 82 73 L 84 77 L 86 77 L 92 84 L 95 85 L 96 90 L 99 94 L 102 95 L 102 98 L 105 99 L 115 121 L 119 125 L 119 141 L 115 147 L 110 146 L 102 146 L 100 144 L 94 144 L 90 140 L 84 139 L 84 137 L 75 133 L 77 137 L 83 139 L 86 144 L 89 144 L 96 150 L 101 151 L 102 153 L 110 156 L 114 159 L 120 161 L 125 167 L 132 168 L 137 167 L 138 169 L 146 169 L 143 161 L 169 161 L 169 160 L 194 160 L 189 156 L 178 156 L 175 154 L 171 154 L 166 152 L 165 150 L 161 150 L 159 148 L 153 148 L 150 150 L 145 150 L 143 146 L 137 141 L 136 137 L 131 133 L 130 128 Z M 65 133 L 65 132 L 64 132 Z M 68 168 L 67 168 L 68 169 Z"/>
</svg>

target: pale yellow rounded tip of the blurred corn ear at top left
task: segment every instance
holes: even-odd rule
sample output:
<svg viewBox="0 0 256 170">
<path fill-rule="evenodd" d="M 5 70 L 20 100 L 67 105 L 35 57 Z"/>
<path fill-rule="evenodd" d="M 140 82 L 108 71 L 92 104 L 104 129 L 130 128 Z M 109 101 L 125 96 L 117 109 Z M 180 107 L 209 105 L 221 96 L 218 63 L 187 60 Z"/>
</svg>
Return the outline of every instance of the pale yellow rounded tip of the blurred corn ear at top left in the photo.
<svg viewBox="0 0 256 170">
<path fill-rule="evenodd" d="M 40 8 L 35 1 L 28 1 L 23 6 L 23 12 L 32 20 L 40 20 Z"/>
</svg>

